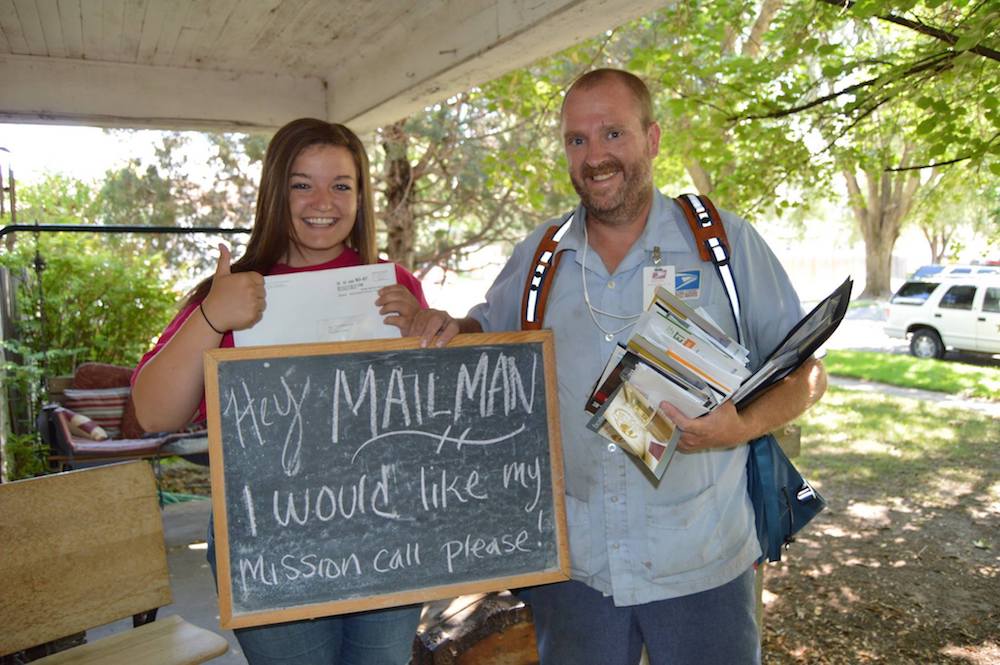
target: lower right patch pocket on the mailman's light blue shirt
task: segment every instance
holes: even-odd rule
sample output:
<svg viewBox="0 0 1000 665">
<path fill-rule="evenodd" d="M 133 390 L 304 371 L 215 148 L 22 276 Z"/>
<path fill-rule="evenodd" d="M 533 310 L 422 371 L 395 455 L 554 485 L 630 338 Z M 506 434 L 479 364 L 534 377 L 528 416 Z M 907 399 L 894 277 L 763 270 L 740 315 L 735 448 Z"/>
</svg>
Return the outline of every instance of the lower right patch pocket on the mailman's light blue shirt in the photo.
<svg viewBox="0 0 1000 665">
<path fill-rule="evenodd" d="M 716 486 L 666 505 L 646 505 L 647 546 L 653 578 L 670 577 L 705 567 L 713 558 L 720 528 Z"/>
</svg>

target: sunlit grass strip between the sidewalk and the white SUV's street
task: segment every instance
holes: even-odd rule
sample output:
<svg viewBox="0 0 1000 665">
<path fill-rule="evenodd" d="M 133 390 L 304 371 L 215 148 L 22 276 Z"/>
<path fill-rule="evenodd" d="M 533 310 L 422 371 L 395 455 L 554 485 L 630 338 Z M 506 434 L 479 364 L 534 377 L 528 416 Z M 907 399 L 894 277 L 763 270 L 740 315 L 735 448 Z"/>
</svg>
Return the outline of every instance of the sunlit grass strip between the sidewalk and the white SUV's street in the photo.
<svg viewBox="0 0 1000 665">
<path fill-rule="evenodd" d="M 887 383 L 903 388 L 1000 400 L 1000 368 L 871 351 L 828 351 L 826 371 L 835 376 Z"/>
</svg>

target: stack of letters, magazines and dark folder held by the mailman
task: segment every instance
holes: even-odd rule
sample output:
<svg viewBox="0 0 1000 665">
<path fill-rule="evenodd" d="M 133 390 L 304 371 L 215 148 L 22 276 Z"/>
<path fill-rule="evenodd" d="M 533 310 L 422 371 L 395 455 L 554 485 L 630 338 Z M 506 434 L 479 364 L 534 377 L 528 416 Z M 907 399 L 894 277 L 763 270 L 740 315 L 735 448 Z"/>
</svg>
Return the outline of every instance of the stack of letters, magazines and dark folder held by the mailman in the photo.
<svg viewBox="0 0 1000 665">
<path fill-rule="evenodd" d="M 727 399 L 742 409 L 786 377 L 833 334 L 847 311 L 850 278 L 804 316 L 751 374 L 749 353 L 704 312 L 662 288 L 624 346 L 611 354 L 586 410 L 587 426 L 663 476 L 680 432 L 663 417 L 669 402 L 688 418 Z"/>
</svg>

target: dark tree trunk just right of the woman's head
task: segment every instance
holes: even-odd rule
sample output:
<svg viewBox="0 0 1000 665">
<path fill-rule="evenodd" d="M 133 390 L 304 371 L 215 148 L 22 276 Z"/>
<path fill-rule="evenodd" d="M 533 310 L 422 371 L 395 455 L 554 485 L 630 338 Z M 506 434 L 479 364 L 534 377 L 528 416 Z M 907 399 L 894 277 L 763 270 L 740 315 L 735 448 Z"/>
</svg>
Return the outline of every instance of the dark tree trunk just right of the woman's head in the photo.
<svg viewBox="0 0 1000 665">
<path fill-rule="evenodd" d="M 413 270 L 416 229 L 413 215 L 413 169 L 409 159 L 409 136 L 405 120 L 382 128 L 385 151 L 385 222 L 389 260 Z"/>
</svg>

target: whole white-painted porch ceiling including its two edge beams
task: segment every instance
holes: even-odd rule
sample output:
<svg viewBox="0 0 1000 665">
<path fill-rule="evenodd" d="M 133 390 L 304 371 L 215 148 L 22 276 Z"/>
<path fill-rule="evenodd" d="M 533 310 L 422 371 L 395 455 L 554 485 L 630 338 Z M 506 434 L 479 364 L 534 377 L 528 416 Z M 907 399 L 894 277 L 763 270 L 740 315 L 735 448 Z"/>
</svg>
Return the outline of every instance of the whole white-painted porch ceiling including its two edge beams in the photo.
<svg viewBox="0 0 1000 665">
<path fill-rule="evenodd" d="M 367 131 L 664 0 L 0 0 L 0 121 Z"/>
</svg>

